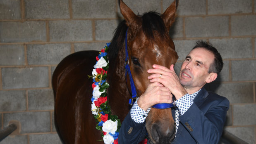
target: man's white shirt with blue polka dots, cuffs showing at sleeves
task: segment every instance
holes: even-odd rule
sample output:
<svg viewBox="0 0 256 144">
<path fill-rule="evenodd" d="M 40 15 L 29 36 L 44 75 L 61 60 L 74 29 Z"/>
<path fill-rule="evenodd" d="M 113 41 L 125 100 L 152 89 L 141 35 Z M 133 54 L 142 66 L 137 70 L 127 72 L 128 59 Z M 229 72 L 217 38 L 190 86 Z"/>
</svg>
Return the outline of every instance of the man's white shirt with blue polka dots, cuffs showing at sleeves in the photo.
<svg viewBox="0 0 256 144">
<path fill-rule="evenodd" d="M 180 116 L 182 116 L 189 109 L 189 107 L 194 103 L 194 99 L 195 99 L 196 95 L 199 93 L 199 91 L 197 91 L 193 94 L 185 94 L 183 97 L 181 97 L 180 99 L 175 101 L 175 105 L 178 108 L 175 111 L 176 132 L 179 127 L 179 113 L 180 113 Z M 148 113 L 151 108 L 148 108 L 147 111 L 144 111 L 143 109 L 141 109 L 137 104 L 138 99 L 136 99 L 136 102 L 132 106 L 131 117 L 132 117 L 132 120 L 134 120 L 136 123 L 143 123 L 145 121 L 146 117 L 148 116 Z M 176 132 L 175 132 L 175 134 L 176 134 Z"/>
</svg>

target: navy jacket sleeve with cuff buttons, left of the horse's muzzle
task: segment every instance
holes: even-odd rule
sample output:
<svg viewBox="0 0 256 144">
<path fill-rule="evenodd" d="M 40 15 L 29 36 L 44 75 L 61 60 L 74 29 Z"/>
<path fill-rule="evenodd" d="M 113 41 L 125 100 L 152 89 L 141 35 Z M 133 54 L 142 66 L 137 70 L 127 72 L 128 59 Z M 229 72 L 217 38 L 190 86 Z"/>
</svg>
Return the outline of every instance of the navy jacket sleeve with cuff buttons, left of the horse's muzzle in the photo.
<svg viewBox="0 0 256 144">
<path fill-rule="evenodd" d="M 119 130 L 118 144 L 139 144 L 146 134 L 145 122 L 136 123 L 129 111 Z"/>
</svg>

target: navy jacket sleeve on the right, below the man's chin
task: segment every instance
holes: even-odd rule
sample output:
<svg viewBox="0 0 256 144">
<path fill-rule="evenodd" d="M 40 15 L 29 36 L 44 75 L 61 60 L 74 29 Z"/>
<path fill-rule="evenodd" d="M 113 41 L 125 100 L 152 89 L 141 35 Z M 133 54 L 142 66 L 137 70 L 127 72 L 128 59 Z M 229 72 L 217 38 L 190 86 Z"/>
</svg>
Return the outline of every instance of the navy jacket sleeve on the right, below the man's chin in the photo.
<svg viewBox="0 0 256 144">
<path fill-rule="evenodd" d="M 180 123 L 188 130 L 197 144 L 217 144 L 223 131 L 229 101 L 223 97 L 201 110 L 194 103 L 179 117 Z"/>
</svg>

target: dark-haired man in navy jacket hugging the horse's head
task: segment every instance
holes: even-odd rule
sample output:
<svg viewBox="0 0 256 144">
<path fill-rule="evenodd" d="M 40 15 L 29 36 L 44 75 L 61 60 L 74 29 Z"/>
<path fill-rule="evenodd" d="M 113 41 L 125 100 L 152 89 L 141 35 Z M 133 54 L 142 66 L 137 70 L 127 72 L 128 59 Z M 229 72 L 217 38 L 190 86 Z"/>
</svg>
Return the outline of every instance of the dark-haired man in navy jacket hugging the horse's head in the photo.
<svg viewBox="0 0 256 144">
<path fill-rule="evenodd" d="M 153 65 L 153 69 L 148 70 L 148 73 L 152 73 L 148 77 L 151 84 L 136 100 L 124 119 L 120 129 L 119 144 L 138 143 L 129 142 L 127 139 L 129 127 L 134 127 L 134 130 L 138 131 L 136 123 L 138 125 L 145 123 L 151 106 L 157 103 L 171 103 L 172 94 L 176 98 L 174 103 L 177 106 L 177 109 L 172 109 L 176 124 L 176 135 L 172 144 L 217 144 L 224 127 L 229 101 L 218 94 L 207 92 L 203 86 L 214 81 L 222 68 L 223 60 L 218 51 L 211 44 L 203 41 L 197 41 L 196 46 L 189 52 L 181 66 L 179 76 L 175 74 L 173 65 L 170 69 Z M 139 109 L 139 114 L 145 117 L 138 118 L 136 116 L 138 113 L 134 112 L 134 109 Z M 130 134 L 141 139 L 146 133 L 144 127 L 140 128 L 139 134 L 138 132 L 136 135 L 132 135 L 131 132 Z M 191 127 L 196 127 L 196 130 Z"/>
</svg>

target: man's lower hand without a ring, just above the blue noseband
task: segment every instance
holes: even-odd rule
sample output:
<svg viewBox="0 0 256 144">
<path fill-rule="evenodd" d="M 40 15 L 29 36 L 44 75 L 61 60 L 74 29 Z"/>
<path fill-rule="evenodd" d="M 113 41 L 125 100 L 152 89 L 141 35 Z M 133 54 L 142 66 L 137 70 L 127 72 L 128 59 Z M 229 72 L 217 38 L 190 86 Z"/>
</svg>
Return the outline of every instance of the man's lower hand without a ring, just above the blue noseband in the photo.
<svg viewBox="0 0 256 144">
<path fill-rule="evenodd" d="M 144 111 L 160 103 L 172 103 L 172 94 L 167 87 L 158 82 L 149 84 L 144 94 L 137 101 L 138 106 Z"/>
</svg>

